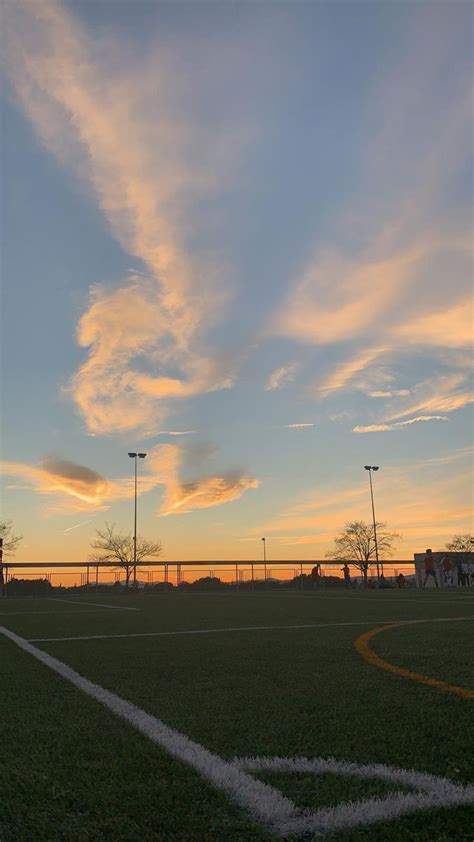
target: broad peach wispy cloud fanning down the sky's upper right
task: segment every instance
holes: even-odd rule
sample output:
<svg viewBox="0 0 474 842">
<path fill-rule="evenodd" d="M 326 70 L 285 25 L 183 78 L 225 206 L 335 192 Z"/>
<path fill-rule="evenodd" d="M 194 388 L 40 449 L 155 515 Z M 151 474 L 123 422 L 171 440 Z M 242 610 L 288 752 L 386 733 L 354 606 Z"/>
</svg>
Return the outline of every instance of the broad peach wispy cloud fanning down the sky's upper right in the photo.
<svg viewBox="0 0 474 842">
<path fill-rule="evenodd" d="M 418 7 L 403 65 L 387 64 L 366 103 L 373 128 L 357 207 L 336 216 L 332 240 L 318 232 L 273 314 L 270 335 L 340 347 L 318 397 L 352 389 L 383 355 L 471 347 L 471 220 L 446 200 L 472 152 L 469 70 L 445 72 L 462 37 L 441 6 Z"/>
</svg>

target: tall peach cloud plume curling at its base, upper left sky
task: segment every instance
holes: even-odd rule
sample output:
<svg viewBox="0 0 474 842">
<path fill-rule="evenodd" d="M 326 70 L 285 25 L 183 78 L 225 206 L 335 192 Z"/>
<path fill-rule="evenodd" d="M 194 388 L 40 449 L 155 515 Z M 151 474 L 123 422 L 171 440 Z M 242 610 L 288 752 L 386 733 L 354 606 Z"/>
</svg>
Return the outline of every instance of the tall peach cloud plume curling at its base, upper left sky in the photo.
<svg viewBox="0 0 474 842">
<path fill-rule="evenodd" d="M 192 109 L 183 114 L 173 100 L 179 65 L 169 53 L 124 69 L 119 46 L 86 31 L 55 0 L 17 0 L 7 12 L 7 66 L 19 101 L 48 149 L 88 182 L 121 246 L 146 267 L 115 289 L 93 288 L 77 330 L 88 358 L 69 391 L 92 433 L 150 431 L 169 401 L 233 380 L 198 338 L 221 312 L 228 285 L 222 267 L 191 258 L 183 230 L 196 196 L 231 171 L 245 131 L 226 123 L 215 132 L 191 118 Z"/>
</svg>

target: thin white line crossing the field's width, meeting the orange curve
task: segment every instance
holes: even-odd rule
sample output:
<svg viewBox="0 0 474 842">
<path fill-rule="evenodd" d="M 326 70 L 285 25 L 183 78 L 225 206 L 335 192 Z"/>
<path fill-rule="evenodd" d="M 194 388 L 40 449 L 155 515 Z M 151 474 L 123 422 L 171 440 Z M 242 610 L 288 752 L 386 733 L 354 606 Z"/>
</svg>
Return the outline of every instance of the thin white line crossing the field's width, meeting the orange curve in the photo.
<svg viewBox="0 0 474 842">
<path fill-rule="evenodd" d="M 87 612 L 89 613 L 89 612 Z M 413 620 L 407 619 L 406 617 L 403 620 L 357 620 L 357 621 L 350 621 L 350 622 L 342 622 L 342 623 L 305 623 L 302 625 L 289 625 L 289 626 L 236 626 L 236 627 L 228 627 L 222 629 L 182 629 L 178 631 L 167 631 L 167 632 L 124 632 L 120 634 L 90 634 L 90 635 L 78 635 L 75 637 L 31 637 L 29 638 L 30 643 L 57 643 L 58 641 L 64 640 L 113 640 L 115 638 L 123 638 L 123 637 L 173 637 L 176 635 L 184 635 L 184 634 L 223 634 L 228 632 L 240 632 L 240 631 L 281 631 L 285 629 L 326 629 L 326 628 L 338 628 L 340 626 L 372 626 L 372 625 L 380 625 L 380 626 L 389 626 L 392 623 L 450 623 L 456 620 L 474 620 L 474 614 L 469 617 L 431 617 L 429 619 L 419 620 L 417 617 Z"/>
</svg>

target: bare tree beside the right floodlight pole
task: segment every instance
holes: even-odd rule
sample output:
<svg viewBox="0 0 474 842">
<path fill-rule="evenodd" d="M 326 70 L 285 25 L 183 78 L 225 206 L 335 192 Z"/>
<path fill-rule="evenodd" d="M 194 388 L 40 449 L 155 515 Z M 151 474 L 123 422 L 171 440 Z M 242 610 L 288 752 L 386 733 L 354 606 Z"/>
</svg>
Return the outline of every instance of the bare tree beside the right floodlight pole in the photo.
<svg viewBox="0 0 474 842">
<path fill-rule="evenodd" d="M 394 544 L 401 539 L 397 532 L 386 532 L 386 525 L 376 523 L 379 559 L 391 556 Z M 329 550 L 326 557 L 353 564 L 361 571 L 366 585 L 369 567 L 376 561 L 373 524 L 364 523 L 362 520 L 346 524 L 344 531 L 334 538 L 334 544 L 334 549 Z"/>
</svg>

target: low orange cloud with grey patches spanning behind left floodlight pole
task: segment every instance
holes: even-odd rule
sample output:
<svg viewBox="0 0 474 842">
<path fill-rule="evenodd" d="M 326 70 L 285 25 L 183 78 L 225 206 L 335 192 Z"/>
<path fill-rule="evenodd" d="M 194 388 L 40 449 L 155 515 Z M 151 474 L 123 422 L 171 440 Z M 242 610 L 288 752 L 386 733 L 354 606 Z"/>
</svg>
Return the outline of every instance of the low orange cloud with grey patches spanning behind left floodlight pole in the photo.
<svg viewBox="0 0 474 842">
<path fill-rule="evenodd" d="M 180 471 L 185 460 L 186 451 L 172 444 L 157 445 L 148 453 L 138 494 L 164 486 L 161 515 L 221 506 L 258 487 L 258 480 L 241 469 L 222 475 L 200 475 L 192 482 L 183 482 Z M 37 466 L 3 462 L 0 469 L 3 475 L 21 477 L 29 488 L 53 498 L 55 511 L 104 511 L 114 501 L 134 495 L 134 481 L 130 477 L 107 480 L 90 468 L 57 456 L 48 456 Z"/>
</svg>

